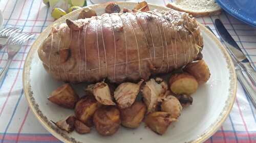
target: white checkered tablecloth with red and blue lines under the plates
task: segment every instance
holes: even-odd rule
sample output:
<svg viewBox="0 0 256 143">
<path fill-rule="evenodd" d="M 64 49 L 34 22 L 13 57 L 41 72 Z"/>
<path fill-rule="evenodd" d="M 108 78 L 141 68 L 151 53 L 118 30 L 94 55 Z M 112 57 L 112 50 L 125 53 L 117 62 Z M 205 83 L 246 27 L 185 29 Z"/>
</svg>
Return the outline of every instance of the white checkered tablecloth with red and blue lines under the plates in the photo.
<svg viewBox="0 0 256 143">
<path fill-rule="evenodd" d="M 243 1 L 243 0 L 241 0 Z M 164 6 L 169 0 L 147 1 Z M 91 3 L 88 2 L 90 5 Z M 54 21 L 49 8 L 41 0 L 2 0 L 0 9 L 4 15 L 4 27 L 16 26 L 36 37 Z M 256 28 L 246 25 L 229 14 L 202 17 L 198 21 L 209 25 L 216 33 L 212 21 L 220 18 L 232 37 L 242 47 L 251 64 L 256 66 Z M 217 33 L 216 33 L 217 34 Z M 29 40 L 15 56 L 3 81 L 0 81 L 0 142 L 61 142 L 51 135 L 34 117 L 24 96 L 22 86 L 23 65 L 35 40 Z M 0 51 L 0 69 L 7 61 L 5 50 Z M 227 120 L 206 142 L 256 142 L 256 110 L 241 84 L 237 99 Z"/>
</svg>

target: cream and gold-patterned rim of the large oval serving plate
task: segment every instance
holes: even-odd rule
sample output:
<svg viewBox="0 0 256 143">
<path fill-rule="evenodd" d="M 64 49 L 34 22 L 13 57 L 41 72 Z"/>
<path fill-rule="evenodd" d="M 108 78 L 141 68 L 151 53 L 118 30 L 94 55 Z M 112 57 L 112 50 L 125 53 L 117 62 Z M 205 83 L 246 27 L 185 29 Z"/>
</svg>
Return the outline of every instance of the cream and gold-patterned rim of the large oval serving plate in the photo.
<svg viewBox="0 0 256 143">
<path fill-rule="evenodd" d="M 117 4 L 129 4 L 129 5 L 135 5 L 137 4 L 136 2 L 116 2 Z M 96 5 L 91 5 L 91 6 L 87 6 L 87 7 L 93 7 L 93 8 L 97 8 L 100 6 L 103 6 L 105 4 L 96 4 Z M 163 6 L 159 6 L 159 5 L 154 5 L 154 4 L 148 4 L 151 6 L 155 6 L 155 7 L 162 7 L 164 9 L 169 9 Z M 80 9 L 81 10 L 81 9 Z M 80 12 L 80 10 L 75 10 L 72 13 L 69 13 L 61 18 L 59 18 L 58 20 L 54 21 L 53 23 L 51 23 L 50 25 L 48 25 L 45 30 L 42 32 L 44 33 L 46 30 L 48 30 L 49 28 L 51 28 L 54 24 L 56 23 L 60 23 L 61 20 L 65 19 L 66 17 L 73 15 L 73 13 L 78 13 Z M 236 72 L 234 70 L 234 65 L 232 63 L 232 60 L 228 54 L 228 52 L 226 51 L 226 49 L 223 47 L 223 45 L 221 44 L 221 42 L 218 40 L 218 38 L 212 34 L 206 27 L 204 27 L 204 25 L 200 24 L 200 28 L 201 31 L 204 31 L 206 33 L 206 35 L 208 35 L 212 41 L 214 41 L 217 44 L 217 47 L 220 48 L 220 50 L 222 51 L 222 53 L 225 56 L 225 60 L 227 62 L 227 68 L 229 70 L 229 74 L 230 74 L 230 83 L 229 83 L 229 95 L 228 95 L 228 100 L 230 100 L 228 103 L 226 103 L 226 105 L 224 106 L 224 108 L 222 109 L 222 112 L 220 113 L 218 118 L 221 118 L 218 122 L 215 121 L 214 127 L 211 127 L 209 129 L 207 129 L 203 134 L 201 134 L 200 136 L 198 136 L 196 139 L 189 141 L 190 143 L 194 143 L 194 142 L 203 142 L 206 139 L 208 139 L 211 135 L 213 135 L 218 129 L 219 127 L 222 125 L 222 123 L 226 120 L 226 118 L 228 117 L 234 100 L 236 99 L 236 93 L 237 93 L 237 78 L 236 78 Z M 39 123 L 45 128 L 47 129 L 52 135 L 54 135 L 56 138 L 58 138 L 59 140 L 63 141 L 63 142 L 79 142 L 77 141 L 75 138 L 69 137 L 68 135 L 66 135 L 65 133 L 62 133 L 61 131 L 59 131 L 58 129 L 54 130 L 53 127 L 50 127 L 49 123 L 50 122 L 48 119 L 47 122 L 44 119 L 44 115 L 41 112 L 41 110 L 38 108 L 38 104 L 35 102 L 35 99 L 33 97 L 33 91 L 31 91 L 31 85 L 30 85 L 30 63 L 32 62 L 33 59 L 33 53 L 37 53 L 37 48 L 33 48 L 36 47 L 36 44 L 40 41 L 40 37 L 42 37 L 42 35 L 40 34 L 37 39 L 33 42 L 26 60 L 25 60 L 25 64 L 24 64 L 24 70 L 23 70 L 23 89 L 24 89 L 24 94 L 25 97 L 28 101 L 29 107 L 32 109 L 32 112 L 34 114 L 34 116 L 36 117 L 36 119 L 39 121 Z M 51 124 L 51 123 L 50 123 Z M 56 127 L 55 127 L 56 128 Z"/>
</svg>

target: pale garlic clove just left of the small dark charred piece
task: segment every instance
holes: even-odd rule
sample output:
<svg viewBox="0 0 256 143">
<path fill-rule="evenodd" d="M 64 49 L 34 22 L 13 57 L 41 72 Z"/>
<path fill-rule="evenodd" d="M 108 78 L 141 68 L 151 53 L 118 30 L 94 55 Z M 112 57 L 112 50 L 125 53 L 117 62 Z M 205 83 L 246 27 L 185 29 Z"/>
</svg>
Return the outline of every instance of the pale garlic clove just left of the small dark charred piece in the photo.
<svg viewBox="0 0 256 143">
<path fill-rule="evenodd" d="M 169 95 L 162 102 L 161 110 L 170 113 L 170 117 L 177 119 L 180 117 L 182 106 L 176 97 Z"/>
</svg>

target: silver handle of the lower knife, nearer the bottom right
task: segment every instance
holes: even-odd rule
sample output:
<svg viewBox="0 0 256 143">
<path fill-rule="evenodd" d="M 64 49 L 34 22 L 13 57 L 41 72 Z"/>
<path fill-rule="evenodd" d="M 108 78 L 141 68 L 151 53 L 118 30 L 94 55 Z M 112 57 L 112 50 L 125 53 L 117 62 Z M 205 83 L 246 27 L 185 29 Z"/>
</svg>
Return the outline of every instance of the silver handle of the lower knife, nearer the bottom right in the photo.
<svg viewBox="0 0 256 143">
<path fill-rule="evenodd" d="M 238 80 L 241 82 L 242 87 L 246 90 L 246 92 L 248 93 L 251 99 L 252 104 L 256 108 L 256 92 L 251 88 L 250 84 L 244 77 L 240 68 L 236 68 L 236 73 L 237 73 Z"/>
</svg>

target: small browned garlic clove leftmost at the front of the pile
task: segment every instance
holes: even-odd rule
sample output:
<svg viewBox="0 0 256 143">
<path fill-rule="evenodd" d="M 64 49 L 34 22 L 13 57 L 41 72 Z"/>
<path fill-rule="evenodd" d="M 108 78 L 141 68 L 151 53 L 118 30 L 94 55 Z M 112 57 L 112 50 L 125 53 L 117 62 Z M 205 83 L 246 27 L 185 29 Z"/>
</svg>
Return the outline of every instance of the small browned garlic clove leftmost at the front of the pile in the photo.
<svg viewBox="0 0 256 143">
<path fill-rule="evenodd" d="M 75 117 L 74 116 L 69 116 L 64 120 L 60 120 L 58 122 L 53 122 L 53 124 L 55 124 L 58 128 L 67 131 L 68 133 L 74 131 L 75 129 Z"/>
</svg>

